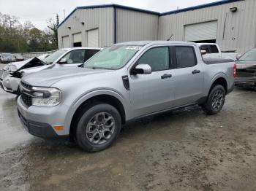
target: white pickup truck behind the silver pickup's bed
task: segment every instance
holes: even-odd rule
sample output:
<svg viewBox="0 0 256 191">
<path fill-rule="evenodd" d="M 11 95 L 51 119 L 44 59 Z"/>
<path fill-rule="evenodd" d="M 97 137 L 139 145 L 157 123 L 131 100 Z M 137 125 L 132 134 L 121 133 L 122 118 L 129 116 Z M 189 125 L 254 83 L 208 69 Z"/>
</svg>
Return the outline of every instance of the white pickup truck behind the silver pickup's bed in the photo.
<svg viewBox="0 0 256 191">
<path fill-rule="evenodd" d="M 198 43 L 201 51 L 205 51 L 203 58 L 224 58 L 236 60 L 237 52 L 222 52 L 218 44 L 215 43 Z"/>
</svg>

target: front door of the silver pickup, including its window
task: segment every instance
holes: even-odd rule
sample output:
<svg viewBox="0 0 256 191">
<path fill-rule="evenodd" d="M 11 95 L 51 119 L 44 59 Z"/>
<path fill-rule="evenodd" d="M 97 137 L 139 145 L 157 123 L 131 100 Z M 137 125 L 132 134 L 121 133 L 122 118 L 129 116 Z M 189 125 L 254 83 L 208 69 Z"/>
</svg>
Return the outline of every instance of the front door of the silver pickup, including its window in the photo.
<svg viewBox="0 0 256 191">
<path fill-rule="evenodd" d="M 135 116 L 172 107 L 173 79 L 169 58 L 169 47 L 153 47 L 138 59 L 136 65 L 148 64 L 152 73 L 130 76 L 130 101 Z"/>
</svg>

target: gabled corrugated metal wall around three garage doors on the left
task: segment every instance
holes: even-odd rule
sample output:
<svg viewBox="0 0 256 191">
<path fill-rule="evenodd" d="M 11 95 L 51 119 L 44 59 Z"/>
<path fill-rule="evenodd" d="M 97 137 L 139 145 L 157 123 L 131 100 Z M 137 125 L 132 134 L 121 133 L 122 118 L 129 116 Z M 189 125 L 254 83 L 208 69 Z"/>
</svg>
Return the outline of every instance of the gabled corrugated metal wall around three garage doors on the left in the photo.
<svg viewBox="0 0 256 191">
<path fill-rule="evenodd" d="M 84 26 L 81 24 L 84 23 Z M 72 47 L 72 34 L 82 33 L 82 46 L 87 46 L 87 32 L 99 28 L 99 47 L 113 44 L 114 34 L 113 7 L 95 9 L 77 9 L 58 28 L 59 47 L 62 48 L 61 37 L 69 36 L 69 47 Z M 71 27 L 69 30 L 68 27 Z"/>
</svg>

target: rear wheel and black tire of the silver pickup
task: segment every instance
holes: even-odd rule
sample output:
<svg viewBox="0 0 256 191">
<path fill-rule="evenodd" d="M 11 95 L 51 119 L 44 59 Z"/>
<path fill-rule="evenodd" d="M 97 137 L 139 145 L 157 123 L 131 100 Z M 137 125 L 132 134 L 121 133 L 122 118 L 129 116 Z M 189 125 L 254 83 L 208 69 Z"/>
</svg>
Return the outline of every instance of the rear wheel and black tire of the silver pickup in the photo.
<svg viewBox="0 0 256 191">
<path fill-rule="evenodd" d="M 219 96 L 217 96 L 218 93 L 220 93 L 219 96 L 222 95 L 222 98 L 219 98 Z M 217 114 L 218 112 L 220 112 L 225 103 L 225 96 L 226 92 L 222 85 L 214 86 L 208 95 L 206 103 L 202 105 L 203 111 L 206 112 L 206 114 Z M 217 103 L 216 98 L 219 98 L 219 101 L 217 101 Z"/>
</svg>

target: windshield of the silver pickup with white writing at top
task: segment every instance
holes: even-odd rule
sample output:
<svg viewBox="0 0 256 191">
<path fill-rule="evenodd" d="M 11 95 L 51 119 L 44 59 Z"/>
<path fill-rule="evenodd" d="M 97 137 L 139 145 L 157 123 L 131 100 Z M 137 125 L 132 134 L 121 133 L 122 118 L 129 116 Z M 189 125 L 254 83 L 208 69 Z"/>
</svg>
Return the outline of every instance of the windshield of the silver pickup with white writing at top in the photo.
<svg viewBox="0 0 256 191">
<path fill-rule="evenodd" d="M 113 45 L 99 51 L 83 67 L 91 69 L 121 69 L 135 55 L 140 46 Z"/>
</svg>

